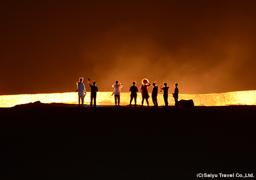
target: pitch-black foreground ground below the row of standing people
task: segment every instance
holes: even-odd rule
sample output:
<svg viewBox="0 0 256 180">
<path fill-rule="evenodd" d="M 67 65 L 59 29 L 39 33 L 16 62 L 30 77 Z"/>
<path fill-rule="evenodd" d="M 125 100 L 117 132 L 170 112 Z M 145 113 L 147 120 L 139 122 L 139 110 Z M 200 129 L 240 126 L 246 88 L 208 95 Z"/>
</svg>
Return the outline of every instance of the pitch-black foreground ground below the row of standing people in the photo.
<svg viewBox="0 0 256 180">
<path fill-rule="evenodd" d="M 255 106 L 0 108 L 0 179 L 256 177 L 255 112 Z"/>
</svg>

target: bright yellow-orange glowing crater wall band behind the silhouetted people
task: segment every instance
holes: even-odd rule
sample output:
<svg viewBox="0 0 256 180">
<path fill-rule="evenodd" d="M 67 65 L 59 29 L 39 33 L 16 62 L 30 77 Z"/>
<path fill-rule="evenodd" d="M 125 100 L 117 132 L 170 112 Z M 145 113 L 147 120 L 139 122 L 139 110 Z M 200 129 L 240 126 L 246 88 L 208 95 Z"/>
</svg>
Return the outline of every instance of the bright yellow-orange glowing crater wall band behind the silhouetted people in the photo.
<svg viewBox="0 0 256 180">
<path fill-rule="evenodd" d="M 112 92 L 98 92 L 97 105 L 114 105 L 114 96 Z M 151 93 L 149 93 L 151 96 Z M 178 100 L 193 99 L 195 106 L 227 106 L 227 105 L 256 105 L 256 90 L 237 91 L 228 93 L 213 93 L 201 95 L 179 94 Z M 149 105 L 153 106 L 149 99 Z M 3 95 L 0 96 L 0 107 L 14 107 L 19 104 L 27 104 L 30 102 L 40 101 L 42 103 L 64 103 L 78 104 L 77 93 L 50 93 L 50 94 L 34 94 L 34 95 Z M 137 105 L 141 105 L 141 93 L 137 96 Z M 157 101 L 159 106 L 165 105 L 163 95 L 158 94 Z M 174 106 L 174 98 L 169 95 L 169 105 Z M 85 105 L 90 104 L 90 92 L 84 99 Z M 134 103 L 134 102 L 133 102 Z M 130 93 L 121 93 L 120 105 L 130 104 Z"/>
</svg>

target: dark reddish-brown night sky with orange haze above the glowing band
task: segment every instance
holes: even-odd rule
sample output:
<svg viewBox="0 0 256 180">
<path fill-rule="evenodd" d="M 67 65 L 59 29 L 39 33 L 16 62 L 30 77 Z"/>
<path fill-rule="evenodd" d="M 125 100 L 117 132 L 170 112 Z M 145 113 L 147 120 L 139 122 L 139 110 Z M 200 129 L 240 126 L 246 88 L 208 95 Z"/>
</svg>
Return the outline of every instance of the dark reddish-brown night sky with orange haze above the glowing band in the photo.
<svg viewBox="0 0 256 180">
<path fill-rule="evenodd" d="M 255 0 L 3 0 L 0 95 L 74 92 L 79 77 L 99 91 L 143 78 L 256 90 L 255 12 Z"/>
</svg>

